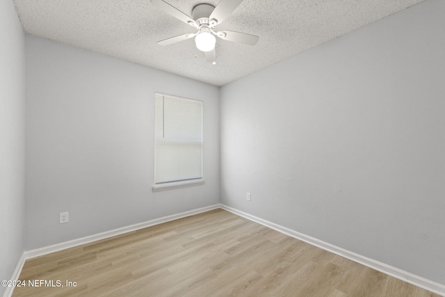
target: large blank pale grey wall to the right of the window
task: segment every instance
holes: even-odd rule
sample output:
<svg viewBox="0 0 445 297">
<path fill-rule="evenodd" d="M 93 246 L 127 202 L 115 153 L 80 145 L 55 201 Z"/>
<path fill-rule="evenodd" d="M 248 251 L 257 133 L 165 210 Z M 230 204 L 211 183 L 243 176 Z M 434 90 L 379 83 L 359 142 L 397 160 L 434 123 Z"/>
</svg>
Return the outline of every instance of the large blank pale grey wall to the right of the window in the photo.
<svg viewBox="0 0 445 297">
<path fill-rule="evenodd" d="M 224 86 L 221 202 L 445 284 L 444 15 L 428 0 Z"/>
</svg>

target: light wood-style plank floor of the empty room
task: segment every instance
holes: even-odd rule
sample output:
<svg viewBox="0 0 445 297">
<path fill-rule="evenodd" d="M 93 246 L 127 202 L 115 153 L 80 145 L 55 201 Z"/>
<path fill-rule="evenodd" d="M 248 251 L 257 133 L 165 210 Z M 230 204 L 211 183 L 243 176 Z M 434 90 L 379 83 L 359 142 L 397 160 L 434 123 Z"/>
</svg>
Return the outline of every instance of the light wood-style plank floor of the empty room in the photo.
<svg viewBox="0 0 445 297">
<path fill-rule="evenodd" d="M 29 259 L 19 280 L 55 287 L 15 297 L 439 296 L 223 209 Z"/>
</svg>

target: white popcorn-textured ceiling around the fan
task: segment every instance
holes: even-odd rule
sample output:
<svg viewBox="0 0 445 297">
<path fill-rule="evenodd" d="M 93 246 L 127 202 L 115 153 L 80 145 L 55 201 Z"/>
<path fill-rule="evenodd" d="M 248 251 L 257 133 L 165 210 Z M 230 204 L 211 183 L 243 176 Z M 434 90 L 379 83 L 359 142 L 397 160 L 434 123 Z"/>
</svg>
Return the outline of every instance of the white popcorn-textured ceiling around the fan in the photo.
<svg viewBox="0 0 445 297">
<path fill-rule="evenodd" d="M 165 0 L 186 15 L 198 3 Z M 257 45 L 217 39 L 212 65 L 192 39 L 156 42 L 196 30 L 149 0 L 14 0 L 24 31 L 215 86 L 349 33 L 423 0 L 244 0 L 216 26 L 259 36 Z"/>
</svg>

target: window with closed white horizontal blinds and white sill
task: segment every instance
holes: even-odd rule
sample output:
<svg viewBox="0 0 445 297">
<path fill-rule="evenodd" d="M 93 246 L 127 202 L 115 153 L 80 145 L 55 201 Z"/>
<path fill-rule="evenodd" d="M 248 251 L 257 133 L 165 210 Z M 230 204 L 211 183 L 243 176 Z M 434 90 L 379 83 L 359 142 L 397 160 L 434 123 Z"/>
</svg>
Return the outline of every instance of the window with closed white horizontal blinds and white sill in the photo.
<svg viewBox="0 0 445 297">
<path fill-rule="evenodd" d="M 201 184 L 202 102 L 155 94 L 153 191 Z"/>
</svg>

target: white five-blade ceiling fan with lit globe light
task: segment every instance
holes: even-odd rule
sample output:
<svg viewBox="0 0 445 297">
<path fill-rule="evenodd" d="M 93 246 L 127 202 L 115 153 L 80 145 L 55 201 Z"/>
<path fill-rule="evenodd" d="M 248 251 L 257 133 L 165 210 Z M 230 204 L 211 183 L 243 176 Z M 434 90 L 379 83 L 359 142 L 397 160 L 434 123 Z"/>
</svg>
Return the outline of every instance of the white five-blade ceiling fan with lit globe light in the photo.
<svg viewBox="0 0 445 297">
<path fill-rule="evenodd" d="M 215 31 L 215 26 L 221 24 L 241 2 L 243 2 L 243 0 L 221 0 L 216 7 L 206 3 L 198 4 L 192 10 L 192 18 L 163 0 L 150 0 L 150 3 L 165 13 L 197 29 L 196 33 L 188 33 L 161 40 L 157 42 L 158 45 L 172 45 L 173 43 L 195 37 L 197 49 L 204 51 L 207 61 L 215 65 L 215 36 L 223 40 L 243 43 L 245 45 L 257 44 L 259 39 L 257 35 L 227 30 Z"/>
</svg>

